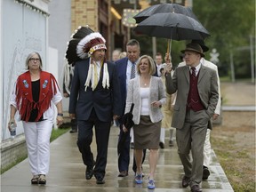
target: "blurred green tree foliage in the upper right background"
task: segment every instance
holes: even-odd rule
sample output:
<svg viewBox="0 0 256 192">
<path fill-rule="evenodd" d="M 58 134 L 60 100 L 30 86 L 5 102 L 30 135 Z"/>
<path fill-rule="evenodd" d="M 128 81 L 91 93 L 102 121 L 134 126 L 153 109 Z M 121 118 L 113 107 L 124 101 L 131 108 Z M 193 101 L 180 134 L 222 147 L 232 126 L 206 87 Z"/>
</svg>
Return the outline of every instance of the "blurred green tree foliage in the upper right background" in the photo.
<svg viewBox="0 0 256 192">
<path fill-rule="evenodd" d="M 250 36 L 255 37 L 255 1 L 194 0 L 193 12 L 204 28 L 211 33 L 211 37 L 207 38 L 205 43 L 220 52 L 220 68 L 228 68 L 229 52 L 232 50 L 234 55 L 240 56 L 234 60 L 236 71 L 238 72 L 238 65 L 245 65 L 243 69 L 245 74 L 240 76 L 249 77 L 251 61 L 248 52 L 250 54 L 250 50 L 247 50 L 245 54 L 247 56 L 243 57 L 244 54 L 239 51 L 239 48 L 249 47 Z M 207 56 L 209 57 L 209 53 Z"/>
</svg>

